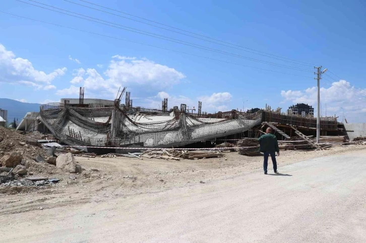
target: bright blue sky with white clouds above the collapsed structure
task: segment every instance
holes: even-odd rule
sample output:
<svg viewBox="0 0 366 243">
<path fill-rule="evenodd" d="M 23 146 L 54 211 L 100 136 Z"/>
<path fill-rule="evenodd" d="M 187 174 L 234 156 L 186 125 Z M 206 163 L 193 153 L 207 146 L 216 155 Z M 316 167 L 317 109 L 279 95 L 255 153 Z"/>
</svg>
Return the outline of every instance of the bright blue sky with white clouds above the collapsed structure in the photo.
<svg viewBox="0 0 366 243">
<path fill-rule="evenodd" d="M 366 122 L 364 1 L 21 1 L 2 2 L 0 98 L 316 108 L 322 65 L 322 116 Z"/>
</svg>

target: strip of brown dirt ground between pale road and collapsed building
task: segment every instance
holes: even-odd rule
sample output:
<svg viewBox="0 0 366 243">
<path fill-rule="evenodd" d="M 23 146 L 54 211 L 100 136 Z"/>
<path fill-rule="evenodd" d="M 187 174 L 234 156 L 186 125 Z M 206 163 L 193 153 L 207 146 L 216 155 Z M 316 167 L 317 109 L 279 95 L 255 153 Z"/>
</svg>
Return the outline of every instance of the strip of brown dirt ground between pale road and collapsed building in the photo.
<svg viewBox="0 0 366 243">
<path fill-rule="evenodd" d="M 366 146 L 338 146 L 322 151 L 281 151 L 277 157 L 278 170 L 281 172 L 281 166 L 297 161 L 358 150 L 366 150 Z M 221 158 L 180 161 L 129 157 L 76 157 L 76 160 L 85 169 L 83 173 L 70 174 L 70 178 L 63 177 L 63 181 L 54 186 L 1 187 L 0 216 L 156 193 L 263 170 L 263 157 L 249 157 L 237 152 L 225 152 L 225 157 Z M 272 170 L 270 161 L 268 170 Z"/>
</svg>

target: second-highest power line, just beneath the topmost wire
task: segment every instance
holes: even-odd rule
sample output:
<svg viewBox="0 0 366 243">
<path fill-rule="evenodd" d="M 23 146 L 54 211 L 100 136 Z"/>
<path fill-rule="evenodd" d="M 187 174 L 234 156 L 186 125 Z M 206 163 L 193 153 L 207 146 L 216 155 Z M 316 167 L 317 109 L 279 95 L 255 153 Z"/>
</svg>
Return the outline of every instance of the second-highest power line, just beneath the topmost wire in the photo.
<svg viewBox="0 0 366 243">
<path fill-rule="evenodd" d="M 32 0 L 29 0 L 31 2 L 35 2 L 35 1 L 32 1 Z M 124 19 L 128 19 L 128 20 L 132 20 L 132 21 L 135 21 L 135 22 L 139 22 L 139 23 L 143 23 L 145 25 L 150 25 L 150 26 L 153 26 L 153 27 L 157 27 L 157 28 L 160 28 L 160 29 L 163 29 L 163 30 L 167 30 L 167 31 L 171 31 L 171 32 L 174 32 L 174 33 L 178 33 L 178 34 L 181 34 L 181 35 L 185 35 L 185 36 L 190 36 L 190 37 L 193 37 L 193 38 L 196 38 L 196 39 L 200 39 L 200 40 L 204 40 L 204 41 L 207 41 L 207 42 L 211 42 L 211 43 L 215 43 L 215 44 L 218 44 L 218 45 L 222 45 L 222 46 L 226 46 L 226 47 L 230 47 L 230 48 L 234 48 L 234 49 L 237 49 L 237 50 L 242 50 L 242 51 L 247 51 L 249 53 L 253 53 L 253 54 L 257 54 L 257 55 L 261 55 L 261 56 L 266 56 L 266 57 L 270 57 L 270 58 L 274 58 L 274 59 L 277 59 L 277 60 L 281 60 L 281 61 L 287 61 L 287 62 L 291 62 L 291 63 L 295 63 L 295 64 L 298 64 L 298 65 L 305 65 L 305 66 L 313 66 L 311 65 L 310 63 L 309 64 L 301 64 L 301 61 L 295 61 L 295 60 L 292 60 L 292 59 L 289 59 L 289 58 L 285 58 L 285 57 L 279 57 L 279 56 L 276 56 L 276 55 L 272 55 L 272 54 L 260 54 L 260 53 L 256 53 L 256 52 L 253 52 L 253 51 L 248 51 L 246 49 L 242 49 L 242 48 L 245 48 L 245 47 L 242 47 L 242 48 L 237 48 L 237 47 L 234 47 L 234 46 L 229 46 L 229 45 L 226 45 L 226 44 L 222 44 L 222 43 L 218 43 L 216 41 L 211 41 L 211 40 L 207 40 L 207 39 L 204 39 L 204 38 L 200 38 L 200 37 L 197 37 L 197 36 L 193 36 L 193 35 L 189 35 L 189 34 L 185 34 L 185 33 L 181 33 L 179 31 L 174 31 L 174 30 L 170 30 L 170 29 L 167 29 L 167 28 L 164 28 L 164 27 L 161 27 L 161 26 L 157 26 L 157 25 L 153 25 L 153 24 L 149 24 L 149 23 L 146 23 L 146 22 L 143 22 L 143 21 L 139 21 L 139 20 L 135 20 L 135 19 L 132 19 L 132 18 L 128 18 L 128 17 L 125 17 L 125 16 L 121 16 L 121 15 L 117 15 L 117 14 L 113 14 L 113 13 L 110 13 L 110 12 L 107 12 L 107 11 L 103 11 L 103 10 L 100 10 L 100 9 L 96 9 L 96 8 L 92 8 L 90 6 L 86 6 L 86 5 L 82 5 L 82 4 L 78 4 L 78 3 L 74 3 L 74 2 L 71 2 L 69 0 L 64 0 L 65 2 L 68 2 L 68 3 L 71 3 L 71 4 L 75 4 L 75 5 L 79 5 L 79 6 L 82 6 L 82 7 L 85 7 L 85 8 L 89 8 L 89 9 L 93 9 L 93 10 L 96 10 L 96 11 L 99 11 L 99 12 L 102 12 L 102 13 L 106 13 L 106 14 L 110 14 L 110 15 L 114 15 L 114 16 L 118 16 L 120 18 L 124 18 Z M 86 1 L 83 1 L 83 2 L 86 2 Z M 37 3 L 37 2 L 35 2 Z M 86 3 L 89 3 L 89 2 L 86 2 Z M 91 3 L 89 3 L 91 4 Z M 94 4 L 92 4 L 94 5 Z M 96 5 L 96 6 L 99 6 L 99 5 Z M 99 7 L 102 7 L 102 6 L 99 6 Z M 102 8 L 106 8 L 106 7 L 102 7 Z M 106 8 L 106 9 L 109 9 L 109 8 Z M 113 11 L 116 11 L 116 10 L 113 10 Z M 116 11 L 116 12 L 119 12 L 119 11 Z M 121 12 L 123 13 L 123 12 Z M 125 13 L 124 13 L 125 14 Z M 134 16 L 136 17 L 136 16 Z M 137 17 L 138 18 L 138 17 Z M 169 26 L 170 27 L 170 26 Z M 170 27 L 170 28 L 174 28 L 174 27 Z M 176 29 L 176 28 L 175 28 Z M 190 32 L 189 32 L 190 33 Z M 197 35 L 197 34 L 196 34 Z M 209 37 L 205 37 L 205 38 L 209 38 Z M 209 38 L 209 39 L 212 39 L 212 38 Z M 215 39 L 213 39 L 215 40 Z M 223 43 L 226 43 L 226 42 L 223 42 Z M 232 44 L 231 44 L 232 45 Z M 249 49 L 249 48 L 247 48 Z M 250 49 L 251 50 L 251 49 Z M 272 55 L 272 56 L 271 56 Z M 282 58 L 282 59 L 281 59 Z M 286 60 L 287 59 L 287 60 Z M 300 63 L 299 63 L 300 62 Z M 305 63 L 305 62 L 302 62 L 302 63 Z"/>
</svg>

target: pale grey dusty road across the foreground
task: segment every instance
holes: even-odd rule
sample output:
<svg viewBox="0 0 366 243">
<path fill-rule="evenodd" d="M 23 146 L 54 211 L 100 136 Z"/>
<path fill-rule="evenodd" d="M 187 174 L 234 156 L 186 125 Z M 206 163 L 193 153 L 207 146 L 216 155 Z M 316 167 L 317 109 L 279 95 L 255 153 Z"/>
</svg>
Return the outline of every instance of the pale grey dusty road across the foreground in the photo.
<svg viewBox="0 0 366 243">
<path fill-rule="evenodd" d="M 3 215 L 1 242 L 366 242 L 365 155 Z"/>
</svg>

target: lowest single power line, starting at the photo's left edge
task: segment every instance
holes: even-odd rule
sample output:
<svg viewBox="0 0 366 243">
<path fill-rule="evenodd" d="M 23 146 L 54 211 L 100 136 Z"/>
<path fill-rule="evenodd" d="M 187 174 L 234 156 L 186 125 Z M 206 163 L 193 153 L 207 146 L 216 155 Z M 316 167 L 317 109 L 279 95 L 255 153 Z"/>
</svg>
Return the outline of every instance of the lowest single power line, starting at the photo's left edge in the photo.
<svg viewBox="0 0 366 243">
<path fill-rule="evenodd" d="M 141 43 L 141 42 L 137 42 L 137 41 L 130 41 L 130 40 L 121 39 L 121 38 L 118 38 L 118 37 L 103 35 L 103 34 L 91 32 L 91 31 L 86 31 L 86 30 L 81 30 L 81 29 L 77 29 L 77 28 L 73 28 L 73 27 L 68 27 L 68 26 L 58 25 L 58 24 L 54 24 L 54 23 L 49 23 L 49 22 L 42 21 L 42 20 L 35 20 L 35 19 L 28 18 L 28 17 L 19 16 L 19 15 L 15 15 L 15 14 L 10 14 L 10 13 L 3 12 L 3 11 L 0 11 L 0 13 L 8 14 L 8 15 L 12 15 L 12 16 L 15 16 L 15 17 L 19 17 L 19 18 L 23 18 L 23 19 L 27 19 L 27 20 L 32 20 L 32 21 L 36 21 L 36 22 L 40 22 L 40 23 L 44 23 L 44 24 L 49 24 L 49 25 L 54 25 L 54 26 L 63 27 L 63 28 L 67 28 L 67 29 L 77 30 L 77 31 L 81 31 L 81 32 L 84 32 L 84 33 L 89 33 L 89 34 L 93 34 L 93 35 L 108 37 L 108 38 L 112 38 L 112 39 L 116 39 L 116 40 L 121 40 L 121 41 L 127 41 L 127 42 L 131 42 L 131 43 L 135 43 L 135 44 L 150 46 L 150 47 L 159 48 L 159 49 L 162 49 L 162 50 L 173 51 L 173 52 L 177 52 L 177 53 L 181 53 L 181 54 L 186 54 L 186 55 L 201 57 L 201 58 L 205 58 L 205 59 L 210 59 L 210 60 L 214 60 L 214 61 L 220 61 L 220 62 L 234 64 L 234 65 L 238 65 L 238 66 L 250 67 L 250 68 L 255 68 L 255 69 L 259 69 L 259 70 L 263 70 L 263 71 L 271 71 L 271 72 L 277 72 L 277 73 L 294 75 L 294 76 L 300 76 L 300 77 L 313 78 L 311 76 L 303 76 L 303 75 L 298 75 L 298 74 L 293 74 L 293 73 L 287 73 L 287 72 L 280 72 L 280 71 L 275 71 L 275 70 L 270 70 L 270 69 L 264 69 L 264 68 L 260 68 L 260 67 L 253 67 L 253 66 L 248 66 L 248 65 L 243 65 L 243 64 L 235 63 L 235 62 L 230 62 L 230 61 L 215 59 L 215 58 L 211 58 L 211 57 L 200 56 L 200 55 L 196 55 L 196 54 L 192 54 L 192 53 L 187 53 L 187 52 L 183 52 L 183 51 L 172 50 L 172 49 L 168 49 L 168 48 L 165 48 L 165 47 L 154 46 L 154 45 L 150 45 L 150 44 L 146 44 L 146 43 Z"/>
</svg>

